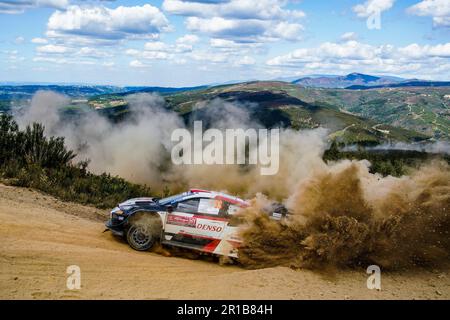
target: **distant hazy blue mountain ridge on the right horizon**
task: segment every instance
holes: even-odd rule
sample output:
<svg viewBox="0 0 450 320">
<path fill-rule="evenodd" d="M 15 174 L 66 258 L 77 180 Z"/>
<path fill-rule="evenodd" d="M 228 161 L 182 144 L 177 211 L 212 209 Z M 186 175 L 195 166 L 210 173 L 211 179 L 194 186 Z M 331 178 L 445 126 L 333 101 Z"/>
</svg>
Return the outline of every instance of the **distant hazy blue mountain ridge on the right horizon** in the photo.
<svg viewBox="0 0 450 320">
<path fill-rule="evenodd" d="M 294 80 L 292 83 L 307 88 L 347 88 L 350 86 L 381 86 L 401 81 L 405 81 L 405 79 L 350 73 L 346 76 L 305 77 Z"/>
</svg>

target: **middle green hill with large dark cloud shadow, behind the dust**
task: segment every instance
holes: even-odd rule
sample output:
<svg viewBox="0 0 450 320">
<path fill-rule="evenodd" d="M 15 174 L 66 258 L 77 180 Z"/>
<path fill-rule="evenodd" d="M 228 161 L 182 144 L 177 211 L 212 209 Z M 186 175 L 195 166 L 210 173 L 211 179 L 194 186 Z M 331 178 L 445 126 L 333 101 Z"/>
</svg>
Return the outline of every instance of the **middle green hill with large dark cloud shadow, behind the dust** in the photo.
<svg viewBox="0 0 450 320">
<path fill-rule="evenodd" d="M 193 118 L 207 122 L 208 108 L 214 104 L 202 105 L 202 101 L 220 98 L 229 102 L 239 102 L 251 118 L 265 127 L 291 127 L 294 129 L 312 129 L 319 126 L 328 128 L 332 138 L 345 143 L 376 144 L 382 141 L 419 141 L 428 136 L 401 127 L 391 127 L 383 123 L 368 120 L 333 106 L 305 101 L 299 95 L 298 86 L 286 82 L 249 82 L 223 85 L 206 89 L 183 91 L 165 95 L 168 107 L 181 114 L 186 122 Z M 89 102 L 112 117 L 123 117 L 127 113 L 123 96 L 103 95 Z M 117 108 L 111 108 L 116 104 Z M 104 106 L 105 108 L 101 108 Z M 197 106 L 194 110 L 194 106 Z"/>
</svg>

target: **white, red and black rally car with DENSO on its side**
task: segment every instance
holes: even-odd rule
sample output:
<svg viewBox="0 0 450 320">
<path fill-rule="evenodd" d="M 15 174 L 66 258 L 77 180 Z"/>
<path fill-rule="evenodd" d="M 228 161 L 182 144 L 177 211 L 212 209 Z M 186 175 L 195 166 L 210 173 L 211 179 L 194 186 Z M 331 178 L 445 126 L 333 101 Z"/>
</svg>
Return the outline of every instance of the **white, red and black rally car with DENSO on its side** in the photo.
<svg viewBox="0 0 450 320">
<path fill-rule="evenodd" d="M 241 240 L 235 214 L 248 202 L 220 192 L 191 189 L 163 199 L 127 200 L 111 211 L 106 227 L 126 238 L 135 250 L 150 249 L 156 242 L 237 257 Z M 269 215 L 281 219 L 282 206 Z M 274 212 L 278 211 L 278 212 Z"/>
</svg>

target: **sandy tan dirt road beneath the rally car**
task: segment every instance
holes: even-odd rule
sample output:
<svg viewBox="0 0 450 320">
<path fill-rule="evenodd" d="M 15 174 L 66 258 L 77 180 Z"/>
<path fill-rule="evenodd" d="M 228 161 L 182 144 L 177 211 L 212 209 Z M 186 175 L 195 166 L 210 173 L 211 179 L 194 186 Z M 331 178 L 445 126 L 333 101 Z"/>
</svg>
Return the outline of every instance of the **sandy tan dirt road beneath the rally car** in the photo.
<svg viewBox="0 0 450 320">
<path fill-rule="evenodd" d="M 0 185 L 1 299 L 449 299 L 449 268 L 382 273 L 245 270 L 136 252 L 102 233 L 107 212 Z M 81 289 L 66 268 L 81 268 Z"/>
</svg>

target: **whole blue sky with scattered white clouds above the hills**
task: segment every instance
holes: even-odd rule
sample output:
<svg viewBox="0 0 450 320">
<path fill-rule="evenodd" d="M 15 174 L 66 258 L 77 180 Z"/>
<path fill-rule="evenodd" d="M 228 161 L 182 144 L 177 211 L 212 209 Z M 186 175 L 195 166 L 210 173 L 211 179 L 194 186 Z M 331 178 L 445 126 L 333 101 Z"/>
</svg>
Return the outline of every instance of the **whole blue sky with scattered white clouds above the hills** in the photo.
<svg viewBox="0 0 450 320">
<path fill-rule="evenodd" d="M 0 0 L 0 82 L 450 80 L 449 0 Z"/>
</svg>

